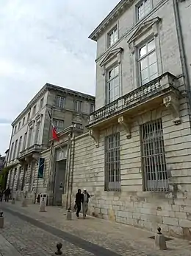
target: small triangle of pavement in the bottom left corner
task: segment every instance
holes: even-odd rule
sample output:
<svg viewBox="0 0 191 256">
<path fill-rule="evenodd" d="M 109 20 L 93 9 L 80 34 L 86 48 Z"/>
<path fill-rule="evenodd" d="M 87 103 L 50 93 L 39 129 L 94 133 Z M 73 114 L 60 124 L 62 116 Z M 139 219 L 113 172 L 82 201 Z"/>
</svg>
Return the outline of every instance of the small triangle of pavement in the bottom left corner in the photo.
<svg viewBox="0 0 191 256">
<path fill-rule="evenodd" d="M 2 235 L 0 235 L 0 256 L 21 256 L 21 254 L 9 243 Z"/>
</svg>

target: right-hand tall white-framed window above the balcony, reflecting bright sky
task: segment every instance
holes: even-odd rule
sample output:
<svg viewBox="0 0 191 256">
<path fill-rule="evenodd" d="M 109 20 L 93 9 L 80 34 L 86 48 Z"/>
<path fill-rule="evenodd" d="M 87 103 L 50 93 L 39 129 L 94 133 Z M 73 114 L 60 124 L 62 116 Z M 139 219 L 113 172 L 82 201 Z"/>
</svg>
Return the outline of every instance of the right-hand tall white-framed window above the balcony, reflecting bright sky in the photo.
<svg viewBox="0 0 191 256">
<path fill-rule="evenodd" d="M 140 80 L 144 85 L 158 76 L 154 39 L 139 49 Z"/>
</svg>

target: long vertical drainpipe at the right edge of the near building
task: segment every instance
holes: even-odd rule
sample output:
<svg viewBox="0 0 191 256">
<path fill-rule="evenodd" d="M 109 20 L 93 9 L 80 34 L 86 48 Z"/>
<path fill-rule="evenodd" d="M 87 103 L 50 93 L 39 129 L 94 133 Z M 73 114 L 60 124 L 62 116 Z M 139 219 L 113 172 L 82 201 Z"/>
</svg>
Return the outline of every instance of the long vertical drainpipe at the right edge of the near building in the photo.
<svg viewBox="0 0 191 256">
<path fill-rule="evenodd" d="M 180 13 L 179 13 L 179 0 L 173 0 L 173 10 L 174 10 L 175 22 L 176 22 L 176 32 L 177 32 L 178 42 L 179 42 L 181 67 L 182 67 L 183 79 L 184 79 L 184 88 L 187 92 L 187 104 L 188 104 L 188 109 L 189 109 L 189 120 L 190 120 L 190 126 L 191 126 L 190 79 L 189 79 L 189 72 L 188 72 L 188 69 L 187 69 L 187 58 L 186 58 L 186 54 L 185 54 L 184 39 L 183 39 L 182 30 L 181 30 L 181 19 L 180 19 Z"/>
</svg>

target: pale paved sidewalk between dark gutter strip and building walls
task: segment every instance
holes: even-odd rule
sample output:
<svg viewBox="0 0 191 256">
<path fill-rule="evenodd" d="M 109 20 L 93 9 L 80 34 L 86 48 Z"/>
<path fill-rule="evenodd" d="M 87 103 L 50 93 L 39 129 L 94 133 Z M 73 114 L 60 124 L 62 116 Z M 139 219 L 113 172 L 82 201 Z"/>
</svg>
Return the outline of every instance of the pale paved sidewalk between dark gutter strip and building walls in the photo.
<svg viewBox="0 0 191 256">
<path fill-rule="evenodd" d="M 167 251 L 156 251 L 154 240 L 149 238 L 154 233 L 143 229 L 93 217 L 87 217 L 85 220 L 83 218 L 77 219 L 75 214 L 73 214 L 73 221 L 67 221 L 66 211 L 60 207 L 47 207 L 47 212 L 39 212 L 39 205 L 37 204 L 25 208 L 21 207 L 21 202 L 16 202 L 15 205 L 4 204 L 4 206 L 44 224 L 76 235 L 84 241 L 109 249 L 118 255 L 191 256 L 190 241 L 173 238 L 167 242 Z"/>
</svg>

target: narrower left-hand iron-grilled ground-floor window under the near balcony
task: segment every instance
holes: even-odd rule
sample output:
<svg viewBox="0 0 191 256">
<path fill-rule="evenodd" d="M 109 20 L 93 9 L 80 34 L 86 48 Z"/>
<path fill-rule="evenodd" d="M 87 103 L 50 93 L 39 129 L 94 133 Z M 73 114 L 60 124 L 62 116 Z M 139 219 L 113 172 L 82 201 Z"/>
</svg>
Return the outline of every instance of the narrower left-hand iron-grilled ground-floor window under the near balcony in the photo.
<svg viewBox="0 0 191 256">
<path fill-rule="evenodd" d="M 120 190 L 120 133 L 105 138 L 105 190 Z"/>
</svg>

